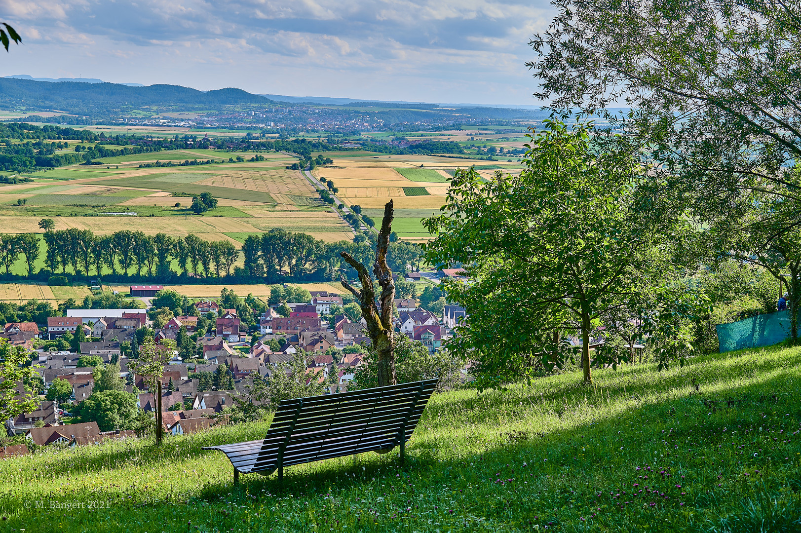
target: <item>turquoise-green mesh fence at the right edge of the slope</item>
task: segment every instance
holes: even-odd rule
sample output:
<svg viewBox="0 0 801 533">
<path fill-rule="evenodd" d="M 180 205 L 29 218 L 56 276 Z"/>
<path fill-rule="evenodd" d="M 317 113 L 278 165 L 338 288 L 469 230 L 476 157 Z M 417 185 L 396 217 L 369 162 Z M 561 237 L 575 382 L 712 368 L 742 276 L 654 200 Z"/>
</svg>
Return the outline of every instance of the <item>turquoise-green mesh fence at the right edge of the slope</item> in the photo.
<svg viewBox="0 0 801 533">
<path fill-rule="evenodd" d="M 790 337 L 790 311 L 757 315 L 714 327 L 718 330 L 721 353 L 775 345 Z"/>
</svg>

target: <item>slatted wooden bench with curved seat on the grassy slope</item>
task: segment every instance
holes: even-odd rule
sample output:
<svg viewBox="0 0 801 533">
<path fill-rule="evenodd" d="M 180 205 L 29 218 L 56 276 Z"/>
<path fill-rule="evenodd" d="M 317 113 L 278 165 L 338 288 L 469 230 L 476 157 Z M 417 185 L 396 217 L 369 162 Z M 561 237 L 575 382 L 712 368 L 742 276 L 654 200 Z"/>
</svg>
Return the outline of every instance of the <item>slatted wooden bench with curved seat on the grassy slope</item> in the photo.
<svg viewBox="0 0 801 533">
<path fill-rule="evenodd" d="M 436 379 L 324 394 L 280 402 L 263 441 L 207 446 L 222 451 L 239 473 L 270 475 L 284 466 L 362 454 L 380 454 L 400 446 L 403 462 L 405 443 L 412 437 Z"/>
</svg>

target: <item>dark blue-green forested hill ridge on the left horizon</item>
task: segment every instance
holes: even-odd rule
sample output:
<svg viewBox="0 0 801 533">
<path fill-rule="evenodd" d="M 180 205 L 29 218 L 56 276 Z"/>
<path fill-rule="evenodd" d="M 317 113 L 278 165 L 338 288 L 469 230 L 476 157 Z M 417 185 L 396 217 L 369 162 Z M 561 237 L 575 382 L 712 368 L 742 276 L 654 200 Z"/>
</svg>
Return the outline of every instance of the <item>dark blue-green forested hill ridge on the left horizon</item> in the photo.
<svg viewBox="0 0 801 533">
<path fill-rule="evenodd" d="M 198 91 L 179 85 L 129 87 L 121 83 L 38 82 L 0 78 L 0 106 L 29 111 L 67 111 L 78 115 L 117 115 L 123 109 L 179 107 L 213 109 L 242 103 L 271 103 L 241 89 Z"/>
</svg>

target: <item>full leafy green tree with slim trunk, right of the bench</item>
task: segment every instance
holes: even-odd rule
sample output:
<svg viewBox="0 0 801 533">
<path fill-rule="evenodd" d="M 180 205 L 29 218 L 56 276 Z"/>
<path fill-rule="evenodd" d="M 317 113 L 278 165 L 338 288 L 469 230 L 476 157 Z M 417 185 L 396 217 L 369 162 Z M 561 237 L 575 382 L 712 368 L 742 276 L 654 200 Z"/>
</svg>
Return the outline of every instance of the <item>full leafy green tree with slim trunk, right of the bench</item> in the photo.
<svg viewBox="0 0 801 533">
<path fill-rule="evenodd" d="M 443 284 L 470 317 L 449 346 L 477 360 L 482 386 L 529 377 L 537 359 L 561 365 L 568 354 L 553 333 L 576 331 L 592 382 L 600 317 L 662 279 L 667 237 L 681 229 L 670 209 L 642 208 L 645 172 L 632 155 L 594 152 L 581 124 L 546 127 L 519 176 L 498 171 L 485 183 L 473 168 L 458 171 L 445 213 L 424 223 L 437 235 L 425 246 L 429 263 L 462 264 L 473 280 Z"/>
</svg>

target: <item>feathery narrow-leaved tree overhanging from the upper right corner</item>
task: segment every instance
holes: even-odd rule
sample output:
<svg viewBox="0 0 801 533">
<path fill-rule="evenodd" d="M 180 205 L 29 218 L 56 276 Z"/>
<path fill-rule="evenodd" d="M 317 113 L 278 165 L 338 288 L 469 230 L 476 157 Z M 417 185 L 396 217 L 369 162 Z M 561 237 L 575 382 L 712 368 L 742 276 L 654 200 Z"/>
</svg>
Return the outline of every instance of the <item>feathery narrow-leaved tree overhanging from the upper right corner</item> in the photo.
<svg viewBox="0 0 801 533">
<path fill-rule="evenodd" d="M 685 201 L 698 226 L 712 229 L 707 260 L 759 256 L 775 275 L 787 264 L 781 276 L 801 285 L 793 261 L 781 257 L 801 220 L 789 168 L 801 157 L 798 2 L 553 6 L 549 30 L 530 42 L 537 59 L 528 65 L 541 82 L 535 96 L 553 110 L 602 115 L 642 147 L 662 194 Z M 617 112 L 622 105 L 631 111 Z M 755 209 L 755 197 L 787 203 L 777 214 Z"/>
</svg>

